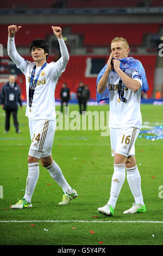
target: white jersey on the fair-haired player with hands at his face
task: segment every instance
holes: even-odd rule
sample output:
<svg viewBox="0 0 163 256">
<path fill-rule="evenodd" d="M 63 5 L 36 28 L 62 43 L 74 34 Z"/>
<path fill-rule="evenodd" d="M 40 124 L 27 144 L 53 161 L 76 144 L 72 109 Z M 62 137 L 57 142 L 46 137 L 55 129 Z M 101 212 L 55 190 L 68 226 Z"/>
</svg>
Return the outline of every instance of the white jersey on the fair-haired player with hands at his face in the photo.
<svg viewBox="0 0 163 256">
<path fill-rule="evenodd" d="M 139 72 L 126 69 L 125 74 L 140 82 L 142 86 L 142 79 Z M 118 100 L 118 84 L 120 77 L 115 71 L 111 71 L 108 79 L 109 86 L 109 127 L 121 128 L 121 127 L 137 127 L 141 129 L 142 117 L 140 112 L 140 97 L 141 87 L 137 92 L 132 92 L 127 87 L 124 87 L 124 97 L 126 102 Z M 123 86 L 123 82 L 122 82 Z"/>
</svg>

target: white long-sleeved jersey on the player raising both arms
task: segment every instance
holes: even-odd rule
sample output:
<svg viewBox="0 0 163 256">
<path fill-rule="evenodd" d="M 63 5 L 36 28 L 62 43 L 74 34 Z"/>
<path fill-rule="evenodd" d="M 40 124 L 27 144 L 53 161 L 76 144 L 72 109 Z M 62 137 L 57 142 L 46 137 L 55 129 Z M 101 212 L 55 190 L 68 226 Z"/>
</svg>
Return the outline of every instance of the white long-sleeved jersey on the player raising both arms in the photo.
<svg viewBox="0 0 163 256">
<path fill-rule="evenodd" d="M 63 39 L 58 39 L 61 58 L 57 62 L 47 63 L 42 69 L 37 80 L 32 106 L 29 108 L 29 81 L 35 62 L 29 62 L 23 59 L 16 51 L 13 38 L 8 39 L 8 54 L 17 68 L 20 69 L 26 76 L 26 93 L 27 93 L 27 108 L 26 115 L 30 119 L 48 119 L 55 120 L 55 97 L 54 90 L 58 82 L 58 78 L 65 71 L 66 64 L 69 59 L 68 51 Z M 64 58 L 65 57 L 65 58 Z M 36 67 L 34 80 L 37 77 L 41 67 Z"/>
</svg>

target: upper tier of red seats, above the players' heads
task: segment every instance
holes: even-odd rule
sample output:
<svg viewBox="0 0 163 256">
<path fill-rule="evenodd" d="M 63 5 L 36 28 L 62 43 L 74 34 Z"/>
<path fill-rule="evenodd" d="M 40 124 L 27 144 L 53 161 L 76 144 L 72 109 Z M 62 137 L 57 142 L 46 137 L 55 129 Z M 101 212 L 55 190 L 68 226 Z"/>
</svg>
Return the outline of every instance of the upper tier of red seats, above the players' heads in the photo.
<svg viewBox="0 0 163 256">
<path fill-rule="evenodd" d="M 17 24 L 19 26 L 19 24 Z M 123 35 L 130 42 L 130 46 L 141 46 L 143 36 L 157 34 L 161 24 L 62 24 L 62 29 L 70 27 L 71 34 L 81 35 L 84 38 L 84 47 L 110 47 L 112 38 Z M 30 27 L 30 31 L 29 31 Z M 8 25 L 0 25 L 3 34 L 6 34 Z M 36 34 L 37 31 L 37 34 Z M 100 36 L 97 35 L 100 31 Z M 108 32 L 108 33 L 107 33 Z M 51 24 L 23 24 L 21 34 L 16 35 L 17 47 L 28 47 L 30 42 L 37 38 L 47 38 L 52 34 Z M 3 36 L 1 44 L 7 45 L 6 37 Z"/>
</svg>

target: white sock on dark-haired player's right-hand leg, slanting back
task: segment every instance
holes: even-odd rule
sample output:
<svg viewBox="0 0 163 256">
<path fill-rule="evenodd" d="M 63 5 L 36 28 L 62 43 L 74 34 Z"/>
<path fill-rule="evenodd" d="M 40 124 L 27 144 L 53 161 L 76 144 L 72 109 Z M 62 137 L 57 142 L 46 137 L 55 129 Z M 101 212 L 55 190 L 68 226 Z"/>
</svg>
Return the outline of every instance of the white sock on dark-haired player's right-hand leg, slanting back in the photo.
<svg viewBox="0 0 163 256">
<path fill-rule="evenodd" d="M 49 174 L 51 174 L 52 178 L 58 183 L 58 185 L 62 188 L 64 193 L 71 193 L 72 188 L 70 185 L 68 185 L 66 179 L 64 178 L 64 175 L 62 174 L 62 171 L 57 163 L 54 162 L 46 167 Z"/>
</svg>

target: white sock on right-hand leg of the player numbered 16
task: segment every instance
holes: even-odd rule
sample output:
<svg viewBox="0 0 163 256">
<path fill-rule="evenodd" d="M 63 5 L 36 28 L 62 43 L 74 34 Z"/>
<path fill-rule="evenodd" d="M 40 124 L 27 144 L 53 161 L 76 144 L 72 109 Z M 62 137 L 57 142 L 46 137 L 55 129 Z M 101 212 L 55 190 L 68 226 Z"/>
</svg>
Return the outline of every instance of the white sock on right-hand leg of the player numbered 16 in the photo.
<svg viewBox="0 0 163 256">
<path fill-rule="evenodd" d="M 142 191 L 141 191 L 141 177 L 137 166 L 133 168 L 126 168 L 127 181 L 134 196 L 135 203 L 144 205 Z"/>
</svg>

